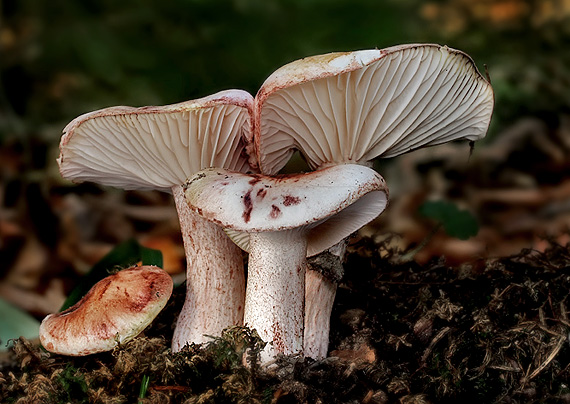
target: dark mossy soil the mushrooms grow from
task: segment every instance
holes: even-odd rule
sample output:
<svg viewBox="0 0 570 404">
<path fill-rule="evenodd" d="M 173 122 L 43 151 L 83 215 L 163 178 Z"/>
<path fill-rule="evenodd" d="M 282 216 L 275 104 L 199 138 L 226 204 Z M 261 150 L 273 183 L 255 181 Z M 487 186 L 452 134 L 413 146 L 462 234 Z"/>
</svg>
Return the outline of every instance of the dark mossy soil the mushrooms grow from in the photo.
<svg viewBox="0 0 570 404">
<path fill-rule="evenodd" d="M 398 256 L 369 238 L 351 244 L 325 360 L 261 369 L 262 343 L 243 328 L 173 354 L 178 288 L 143 335 L 113 352 L 64 357 L 14 341 L 0 402 L 570 402 L 569 246 L 459 267 Z"/>
</svg>

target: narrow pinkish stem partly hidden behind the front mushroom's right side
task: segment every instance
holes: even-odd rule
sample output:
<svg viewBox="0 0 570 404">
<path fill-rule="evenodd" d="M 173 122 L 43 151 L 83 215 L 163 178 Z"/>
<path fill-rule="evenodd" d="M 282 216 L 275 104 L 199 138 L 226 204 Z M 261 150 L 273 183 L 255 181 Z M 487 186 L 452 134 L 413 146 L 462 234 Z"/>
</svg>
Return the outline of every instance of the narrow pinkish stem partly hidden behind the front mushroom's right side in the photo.
<svg viewBox="0 0 570 404">
<path fill-rule="evenodd" d="M 343 240 L 327 251 L 336 260 L 331 266 L 342 262 L 347 246 Z M 327 272 L 334 272 L 328 268 Z M 342 276 L 341 274 L 336 274 Z M 313 359 L 324 359 L 329 348 L 331 313 L 336 296 L 337 281 L 324 276 L 319 271 L 307 270 L 305 277 L 305 330 L 303 348 L 305 356 Z"/>
</svg>

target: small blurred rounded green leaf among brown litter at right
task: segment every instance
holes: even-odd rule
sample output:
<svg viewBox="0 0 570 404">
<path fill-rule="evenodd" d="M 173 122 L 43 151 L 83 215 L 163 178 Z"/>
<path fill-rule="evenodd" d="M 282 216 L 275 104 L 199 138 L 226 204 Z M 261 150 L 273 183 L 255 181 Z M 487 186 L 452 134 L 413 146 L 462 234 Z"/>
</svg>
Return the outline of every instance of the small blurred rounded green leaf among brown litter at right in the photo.
<svg viewBox="0 0 570 404">
<path fill-rule="evenodd" d="M 460 210 L 453 202 L 427 201 L 420 206 L 419 212 L 441 223 L 449 236 L 460 240 L 467 240 L 479 231 L 475 216 L 467 210 Z"/>
</svg>

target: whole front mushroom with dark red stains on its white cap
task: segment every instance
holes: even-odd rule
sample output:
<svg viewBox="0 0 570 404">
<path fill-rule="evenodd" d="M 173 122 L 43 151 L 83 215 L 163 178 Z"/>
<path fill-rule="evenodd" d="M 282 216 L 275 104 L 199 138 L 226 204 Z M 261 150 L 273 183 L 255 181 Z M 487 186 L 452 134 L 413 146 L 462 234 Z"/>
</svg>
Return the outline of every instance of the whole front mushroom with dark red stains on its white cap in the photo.
<svg viewBox="0 0 570 404">
<path fill-rule="evenodd" d="M 384 179 L 345 164 L 271 177 L 217 168 L 192 176 L 190 208 L 228 230 L 249 251 L 244 324 L 271 342 L 262 363 L 303 353 L 306 257 L 338 243 L 386 207 Z"/>
</svg>

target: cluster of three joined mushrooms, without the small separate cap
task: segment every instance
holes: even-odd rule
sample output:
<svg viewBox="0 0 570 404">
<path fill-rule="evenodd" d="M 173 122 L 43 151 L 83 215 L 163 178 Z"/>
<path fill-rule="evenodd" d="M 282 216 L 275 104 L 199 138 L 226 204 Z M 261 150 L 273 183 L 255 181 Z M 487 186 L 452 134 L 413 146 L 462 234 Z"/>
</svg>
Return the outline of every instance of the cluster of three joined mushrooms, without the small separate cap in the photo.
<svg viewBox="0 0 570 404">
<path fill-rule="evenodd" d="M 255 97 L 80 116 L 58 162 L 73 181 L 173 194 L 187 258 L 174 351 L 245 324 L 270 342 L 263 362 L 323 358 L 336 286 L 306 257 L 335 245 L 342 256 L 343 239 L 384 210 L 371 160 L 478 140 L 492 110 L 490 84 L 446 46 L 330 53 L 281 67 Z M 278 175 L 295 151 L 312 171 Z"/>
</svg>

